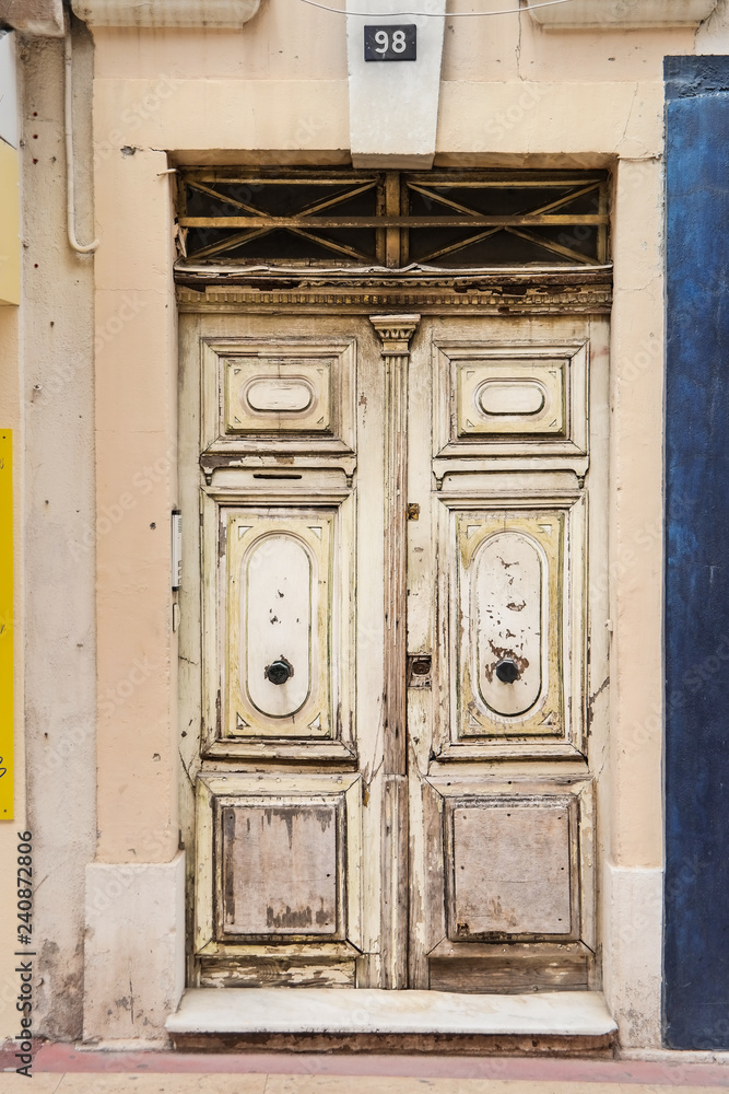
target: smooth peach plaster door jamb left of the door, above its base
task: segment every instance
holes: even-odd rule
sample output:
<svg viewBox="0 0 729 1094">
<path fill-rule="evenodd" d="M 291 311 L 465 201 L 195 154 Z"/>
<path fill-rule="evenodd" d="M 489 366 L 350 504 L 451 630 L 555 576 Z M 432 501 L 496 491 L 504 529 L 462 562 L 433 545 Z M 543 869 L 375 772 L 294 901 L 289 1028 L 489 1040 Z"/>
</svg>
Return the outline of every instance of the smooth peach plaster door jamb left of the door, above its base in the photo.
<svg viewBox="0 0 729 1094">
<path fill-rule="evenodd" d="M 166 166 L 162 152 L 117 150 L 96 170 L 102 862 L 166 862 L 178 845 L 169 558 L 176 314 Z"/>
</svg>

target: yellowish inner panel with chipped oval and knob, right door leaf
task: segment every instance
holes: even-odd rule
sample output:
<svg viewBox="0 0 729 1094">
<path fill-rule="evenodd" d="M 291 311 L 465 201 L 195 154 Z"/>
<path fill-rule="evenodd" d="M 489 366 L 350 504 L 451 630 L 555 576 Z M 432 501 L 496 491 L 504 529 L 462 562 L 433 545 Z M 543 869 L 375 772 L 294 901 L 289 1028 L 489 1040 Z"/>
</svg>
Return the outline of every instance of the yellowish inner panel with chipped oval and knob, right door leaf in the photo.
<svg viewBox="0 0 729 1094">
<path fill-rule="evenodd" d="M 450 520 L 458 735 L 564 736 L 565 513 L 477 510 Z"/>
</svg>

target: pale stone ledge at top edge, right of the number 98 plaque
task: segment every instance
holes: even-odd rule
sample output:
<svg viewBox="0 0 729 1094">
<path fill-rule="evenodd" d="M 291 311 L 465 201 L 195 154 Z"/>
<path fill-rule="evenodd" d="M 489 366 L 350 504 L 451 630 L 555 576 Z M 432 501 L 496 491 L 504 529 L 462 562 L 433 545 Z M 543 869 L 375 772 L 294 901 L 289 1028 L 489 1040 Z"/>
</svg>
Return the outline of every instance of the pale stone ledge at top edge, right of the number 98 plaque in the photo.
<svg viewBox="0 0 729 1094">
<path fill-rule="evenodd" d="M 529 14 L 548 31 L 636 30 L 658 26 L 698 26 L 717 0 L 572 0 L 544 4 L 527 0 Z"/>
</svg>

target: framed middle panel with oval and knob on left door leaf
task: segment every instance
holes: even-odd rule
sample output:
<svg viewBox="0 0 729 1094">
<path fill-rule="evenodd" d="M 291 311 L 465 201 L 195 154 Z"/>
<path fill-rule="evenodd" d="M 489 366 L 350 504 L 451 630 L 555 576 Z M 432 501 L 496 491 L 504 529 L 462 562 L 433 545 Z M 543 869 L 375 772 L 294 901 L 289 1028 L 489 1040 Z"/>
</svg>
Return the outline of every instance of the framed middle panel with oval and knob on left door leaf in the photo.
<svg viewBox="0 0 729 1094">
<path fill-rule="evenodd" d="M 329 505 L 264 497 L 205 504 L 219 572 L 203 590 L 203 625 L 220 650 L 208 672 L 208 753 L 274 758 L 299 747 L 303 759 L 316 745 L 320 758 L 351 759 L 355 493 Z"/>
</svg>

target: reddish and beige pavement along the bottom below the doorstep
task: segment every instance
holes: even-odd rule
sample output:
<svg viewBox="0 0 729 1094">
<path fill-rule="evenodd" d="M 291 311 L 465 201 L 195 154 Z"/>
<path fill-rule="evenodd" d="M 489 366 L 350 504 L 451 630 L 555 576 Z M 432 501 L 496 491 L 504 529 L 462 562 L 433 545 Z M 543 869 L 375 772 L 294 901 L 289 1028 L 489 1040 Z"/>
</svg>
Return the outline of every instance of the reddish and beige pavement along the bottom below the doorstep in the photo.
<svg viewBox="0 0 729 1094">
<path fill-rule="evenodd" d="M 707 1094 L 729 1092 L 729 1054 L 698 1062 L 325 1054 L 106 1052 L 44 1045 L 33 1085 L 0 1052 L 0 1094 Z"/>
</svg>

